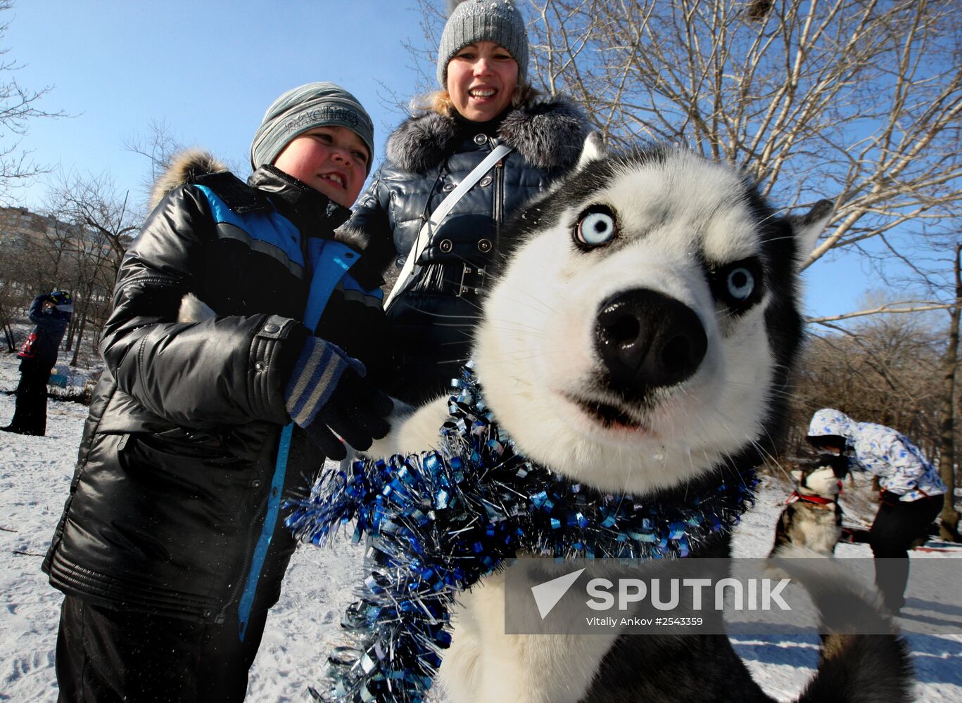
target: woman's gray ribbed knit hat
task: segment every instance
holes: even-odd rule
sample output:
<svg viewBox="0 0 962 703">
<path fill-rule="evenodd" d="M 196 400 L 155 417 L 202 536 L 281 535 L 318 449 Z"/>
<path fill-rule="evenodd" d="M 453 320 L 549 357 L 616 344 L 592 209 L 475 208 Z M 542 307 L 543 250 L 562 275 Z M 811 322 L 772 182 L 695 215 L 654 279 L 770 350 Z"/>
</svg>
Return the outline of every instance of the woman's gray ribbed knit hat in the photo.
<svg viewBox="0 0 962 703">
<path fill-rule="evenodd" d="M 448 3 L 450 5 L 450 2 Z M 528 32 L 511 0 L 465 0 L 449 13 L 438 47 L 438 83 L 447 87 L 447 63 L 468 44 L 494 41 L 518 61 L 518 83 L 528 73 Z"/>
</svg>

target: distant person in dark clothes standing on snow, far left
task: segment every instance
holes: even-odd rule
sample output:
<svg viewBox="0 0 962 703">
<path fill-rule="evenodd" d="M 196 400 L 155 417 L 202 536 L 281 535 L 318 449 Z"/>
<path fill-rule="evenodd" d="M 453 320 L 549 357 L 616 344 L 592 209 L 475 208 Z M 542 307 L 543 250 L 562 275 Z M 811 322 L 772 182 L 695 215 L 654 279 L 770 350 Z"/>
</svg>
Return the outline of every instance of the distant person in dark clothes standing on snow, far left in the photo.
<svg viewBox="0 0 962 703">
<path fill-rule="evenodd" d="M 10 424 L 0 429 L 43 437 L 47 431 L 47 382 L 70 324 L 73 299 L 65 290 L 41 293 L 30 303 L 27 314 L 37 327 L 16 354 L 21 359 L 16 406 Z"/>
</svg>

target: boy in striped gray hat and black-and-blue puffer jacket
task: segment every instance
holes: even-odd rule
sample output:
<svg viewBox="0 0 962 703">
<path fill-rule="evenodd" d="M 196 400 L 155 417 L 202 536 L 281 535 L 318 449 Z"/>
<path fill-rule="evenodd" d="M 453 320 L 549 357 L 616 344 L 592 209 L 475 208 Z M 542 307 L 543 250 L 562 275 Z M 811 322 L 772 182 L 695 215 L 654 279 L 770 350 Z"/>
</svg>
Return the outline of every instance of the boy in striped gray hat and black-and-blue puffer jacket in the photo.
<svg viewBox="0 0 962 703">
<path fill-rule="evenodd" d="M 333 234 L 373 126 L 338 85 L 267 109 L 247 182 L 178 158 L 123 258 L 63 517 L 62 703 L 234 702 L 294 541 L 284 520 L 341 439 L 384 436 L 385 261 Z M 367 369 L 366 369 L 367 367 Z"/>
</svg>

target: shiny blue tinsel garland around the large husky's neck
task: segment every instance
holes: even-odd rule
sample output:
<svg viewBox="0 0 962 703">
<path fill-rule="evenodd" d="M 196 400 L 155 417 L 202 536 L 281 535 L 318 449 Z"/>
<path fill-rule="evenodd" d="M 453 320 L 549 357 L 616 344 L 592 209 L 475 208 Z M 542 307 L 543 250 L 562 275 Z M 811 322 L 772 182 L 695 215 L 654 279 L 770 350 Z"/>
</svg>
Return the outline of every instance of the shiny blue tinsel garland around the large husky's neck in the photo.
<svg viewBox="0 0 962 703">
<path fill-rule="evenodd" d="M 330 656 L 317 699 L 415 703 L 451 641 L 455 596 L 519 552 L 555 557 L 688 556 L 752 500 L 751 471 L 684 502 L 601 494 L 533 464 L 494 423 L 467 369 L 448 401 L 439 451 L 354 462 L 321 477 L 287 524 L 323 545 L 355 522 L 377 567 L 343 624 L 353 646 Z"/>
</svg>

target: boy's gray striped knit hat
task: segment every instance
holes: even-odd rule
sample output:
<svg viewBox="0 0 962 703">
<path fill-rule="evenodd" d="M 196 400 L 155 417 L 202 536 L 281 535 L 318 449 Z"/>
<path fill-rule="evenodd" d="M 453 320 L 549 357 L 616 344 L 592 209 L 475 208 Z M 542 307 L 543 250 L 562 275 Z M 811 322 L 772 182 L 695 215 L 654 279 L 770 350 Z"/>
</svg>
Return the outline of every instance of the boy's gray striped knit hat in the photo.
<svg viewBox="0 0 962 703">
<path fill-rule="evenodd" d="M 374 123 L 358 99 L 333 83 L 309 83 L 288 90 L 264 113 L 250 145 L 251 168 L 258 168 L 284 151 L 295 136 L 315 127 L 346 127 L 367 144 L 367 173 L 374 161 Z"/>
</svg>

